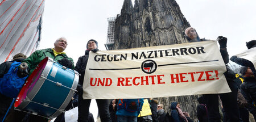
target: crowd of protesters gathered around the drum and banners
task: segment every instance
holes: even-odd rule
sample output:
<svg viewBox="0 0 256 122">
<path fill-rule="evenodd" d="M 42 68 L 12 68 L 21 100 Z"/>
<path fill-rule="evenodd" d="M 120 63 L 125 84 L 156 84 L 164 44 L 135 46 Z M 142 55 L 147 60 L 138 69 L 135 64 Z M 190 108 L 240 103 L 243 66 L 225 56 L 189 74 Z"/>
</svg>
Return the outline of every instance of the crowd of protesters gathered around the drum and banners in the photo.
<svg viewBox="0 0 256 122">
<path fill-rule="evenodd" d="M 193 43 L 197 41 L 207 41 L 205 39 L 200 39 L 195 28 L 189 27 L 185 31 L 185 36 L 187 37 L 188 43 Z M 226 48 L 227 38 L 223 36 L 218 36 L 217 41 L 220 44 L 220 53 L 225 62 L 229 62 L 229 54 Z M 71 102 L 65 108 L 65 111 L 70 110 L 73 107 L 78 106 L 78 119 L 79 122 L 85 121 L 94 121 L 92 115 L 89 112 L 90 99 L 82 99 L 83 89 L 82 85 L 84 83 L 85 69 L 88 62 L 89 52 L 92 51 L 96 53 L 98 51 L 98 43 L 96 40 L 89 40 L 86 44 L 86 51 L 84 56 L 79 57 L 76 65 L 74 65 L 73 59 L 68 57 L 65 54 L 64 50 L 67 47 L 68 42 L 64 37 L 60 37 L 54 43 L 54 48 L 42 49 L 35 51 L 29 57 L 26 57 L 24 54 L 19 53 L 13 57 L 13 61 L 3 62 L 0 65 L 0 85 L 2 85 L 4 80 L 7 80 L 7 74 L 9 74 L 10 69 L 13 68 L 14 62 L 26 63 L 26 66 L 18 66 L 16 68 L 16 78 L 26 78 L 36 69 L 36 66 L 42 61 L 45 57 L 52 58 L 54 61 L 65 66 L 69 69 L 74 69 L 78 71 L 79 84 L 77 85 L 77 93 L 73 95 Z M 246 44 L 248 49 L 256 47 L 256 40 L 249 41 Z M 231 61 L 236 62 L 239 65 L 242 65 L 240 73 L 243 76 L 243 82 L 241 86 L 238 86 L 234 79 L 236 79 L 236 74 L 232 69 L 226 65 L 227 71 L 224 73 L 225 78 L 228 82 L 229 88 L 232 92 L 225 94 L 205 94 L 198 98 L 197 106 L 197 118 L 200 122 L 209 121 L 209 122 L 218 122 L 221 121 L 220 111 L 219 111 L 219 99 L 222 103 L 222 112 L 223 118 L 222 121 L 230 122 L 247 122 L 249 121 L 250 112 L 253 114 L 254 119 L 256 120 L 256 82 L 255 82 L 255 67 L 253 63 L 244 58 L 239 58 L 232 56 Z M 15 70 L 15 68 L 13 68 Z M 5 81 L 5 82 L 6 82 Z M 22 84 L 24 82 L 21 82 Z M 12 102 L 14 97 L 6 96 L 3 94 L 3 90 L 0 93 L 0 120 L 8 116 L 15 116 L 15 121 L 49 121 L 47 117 L 37 116 L 31 113 L 25 112 L 9 112 L 10 107 L 12 107 Z M 241 92 L 242 95 L 239 95 Z M 240 100 L 238 100 L 240 98 Z M 244 100 L 241 100 L 244 98 Z M 239 101 L 239 102 L 238 102 Z M 96 99 L 98 106 L 98 113 L 102 122 L 121 122 L 121 121 L 154 121 L 154 122 L 168 122 L 168 121 L 193 121 L 189 116 L 188 112 L 181 110 L 180 103 L 172 102 L 170 105 L 170 111 L 164 111 L 163 104 L 159 104 L 156 99 L 148 99 L 150 104 L 152 115 L 147 117 L 140 117 L 138 115 L 142 110 L 143 99 L 114 99 L 109 104 L 107 99 Z M 15 111 L 15 110 L 13 110 Z M 12 115 L 13 114 L 13 115 Z M 6 118 L 8 121 L 8 117 Z M 13 120 L 14 121 L 14 120 Z M 55 122 L 65 121 L 64 113 L 59 115 Z"/>
</svg>

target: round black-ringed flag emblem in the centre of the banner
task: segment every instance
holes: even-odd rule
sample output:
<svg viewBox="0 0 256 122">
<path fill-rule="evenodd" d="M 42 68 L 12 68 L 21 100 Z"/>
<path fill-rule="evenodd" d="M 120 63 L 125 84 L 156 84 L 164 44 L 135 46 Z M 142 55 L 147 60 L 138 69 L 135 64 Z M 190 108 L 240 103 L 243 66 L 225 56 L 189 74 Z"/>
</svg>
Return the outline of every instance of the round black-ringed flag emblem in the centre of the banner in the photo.
<svg viewBox="0 0 256 122">
<path fill-rule="evenodd" d="M 142 71 L 147 74 L 154 73 L 157 67 L 156 62 L 153 60 L 146 60 L 141 64 Z"/>
</svg>

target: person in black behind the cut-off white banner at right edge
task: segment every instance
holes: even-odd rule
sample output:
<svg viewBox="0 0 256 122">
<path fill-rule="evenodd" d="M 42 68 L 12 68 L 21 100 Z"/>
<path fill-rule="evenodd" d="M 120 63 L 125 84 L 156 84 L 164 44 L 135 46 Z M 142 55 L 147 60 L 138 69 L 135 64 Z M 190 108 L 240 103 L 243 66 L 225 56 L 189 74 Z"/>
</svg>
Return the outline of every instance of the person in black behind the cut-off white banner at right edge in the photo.
<svg viewBox="0 0 256 122">
<path fill-rule="evenodd" d="M 248 49 L 252 49 L 252 48 L 255 49 L 255 47 L 256 47 L 256 40 L 251 40 L 248 43 L 246 43 L 246 47 Z M 255 53 L 255 52 L 253 52 L 253 53 Z M 250 67 L 251 71 L 253 71 L 254 77 L 256 76 L 256 70 L 255 70 L 255 67 L 253 65 L 253 62 L 251 62 L 249 60 L 246 60 L 245 58 L 239 58 L 237 56 L 232 56 L 230 58 L 230 60 L 233 61 L 233 62 L 236 62 L 239 65 Z"/>
</svg>

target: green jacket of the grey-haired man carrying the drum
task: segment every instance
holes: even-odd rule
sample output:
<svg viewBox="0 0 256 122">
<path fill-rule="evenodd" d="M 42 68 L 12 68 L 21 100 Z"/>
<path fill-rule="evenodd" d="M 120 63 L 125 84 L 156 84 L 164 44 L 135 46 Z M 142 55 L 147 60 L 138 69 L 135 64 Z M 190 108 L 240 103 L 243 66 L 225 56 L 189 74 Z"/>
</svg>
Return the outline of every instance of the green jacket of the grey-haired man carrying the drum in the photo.
<svg viewBox="0 0 256 122">
<path fill-rule="evenodd" d="M 74 61 L 72 58 L 69 58 L 66 54 L 58 54 L 57 56 L 54 56 L 54 53 L 51 48 L 35 51 L 27 59 L 23 60 L 22 62 L 26 62 L 28 64 L 28 68 L 30 68 L 30 74 L 31 74 L 36 68 L 36 65 L 38 65 L 45 57 L 52 58 L 53 61 L 56 61 L 56 62 L 63 58 L 67 58 L 69 61 L 72 62 L 72 65 L 73 65 L 72 69 L 75 69 Z"/>
</svg>

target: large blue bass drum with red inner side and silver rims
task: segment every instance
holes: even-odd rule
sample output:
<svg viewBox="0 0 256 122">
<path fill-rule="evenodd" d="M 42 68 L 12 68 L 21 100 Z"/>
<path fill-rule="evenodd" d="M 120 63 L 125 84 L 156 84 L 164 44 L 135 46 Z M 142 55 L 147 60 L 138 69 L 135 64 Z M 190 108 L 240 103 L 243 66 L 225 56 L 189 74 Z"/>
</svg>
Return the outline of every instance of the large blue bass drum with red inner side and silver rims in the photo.
<svg viewBox="0 0 256 122">
<path fill-rule="evenodd" d="M 28 77 L 14 108 L 33 115 L 55 118 L 68 106 L 79 81 L 76 70 L 44 58 Z"/>
</svg>

